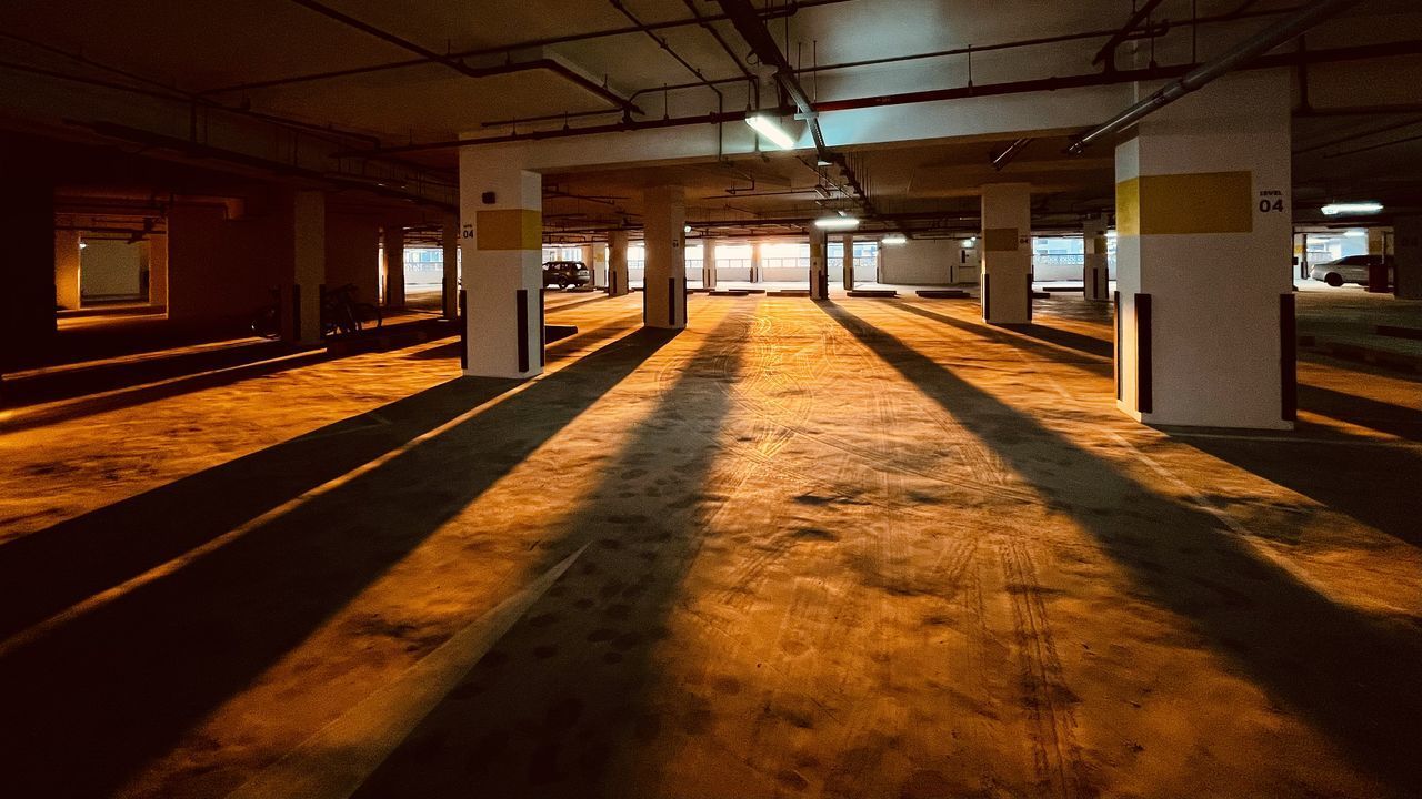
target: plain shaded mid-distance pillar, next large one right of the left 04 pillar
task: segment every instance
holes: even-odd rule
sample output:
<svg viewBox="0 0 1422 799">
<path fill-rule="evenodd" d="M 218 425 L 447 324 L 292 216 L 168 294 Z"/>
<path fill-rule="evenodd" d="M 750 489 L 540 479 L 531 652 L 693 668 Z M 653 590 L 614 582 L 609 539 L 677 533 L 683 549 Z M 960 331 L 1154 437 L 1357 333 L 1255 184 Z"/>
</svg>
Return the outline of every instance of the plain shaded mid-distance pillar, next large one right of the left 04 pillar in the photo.
<svg viewBox="0 0 1422 799">
<path fill-rule="evenodd" d="M 643 324 L 681 330 L 687 326 L 687 200 L 681 186 L 648 189 L 643 210 Z"/>
</svg>

